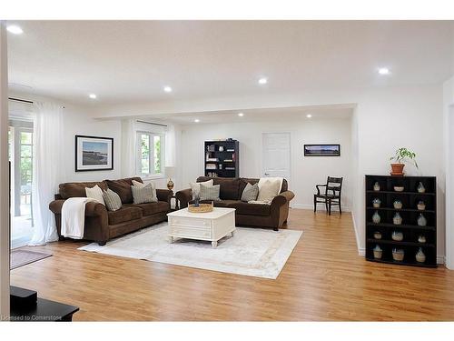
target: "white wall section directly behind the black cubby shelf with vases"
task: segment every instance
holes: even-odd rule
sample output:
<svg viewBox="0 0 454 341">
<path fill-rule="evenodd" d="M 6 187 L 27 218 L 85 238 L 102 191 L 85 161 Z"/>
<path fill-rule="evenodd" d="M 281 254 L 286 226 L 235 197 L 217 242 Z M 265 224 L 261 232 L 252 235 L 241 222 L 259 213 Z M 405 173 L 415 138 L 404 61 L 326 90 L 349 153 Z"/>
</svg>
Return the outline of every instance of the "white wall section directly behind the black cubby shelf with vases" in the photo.
<svg viewBox="0 0 454 341">
<path fill-rule="evenodd" d="M 358 192 L 354 197 L 355 225 L 364 252 L 364 175 L 386 175 L 390 156 L 404 146 L 417 154 L 419 170 L 405 167 L 407 175 L 437 176 L 439 260 L 445 253 L 445 169 L 441 85 L 384 88 L 358 98 Z"/>
</svg>

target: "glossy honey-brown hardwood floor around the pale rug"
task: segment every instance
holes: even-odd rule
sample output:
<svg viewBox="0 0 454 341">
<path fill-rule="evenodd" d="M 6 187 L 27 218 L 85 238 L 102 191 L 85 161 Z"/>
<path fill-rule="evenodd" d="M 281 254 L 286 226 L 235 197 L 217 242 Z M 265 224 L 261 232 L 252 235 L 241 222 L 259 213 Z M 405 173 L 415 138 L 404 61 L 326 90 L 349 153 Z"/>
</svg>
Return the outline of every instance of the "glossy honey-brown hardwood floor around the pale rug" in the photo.
<svg viewBox="0 0 454 341">
<path fill-rule="evenodd" d="M 54 256 L 11 272 L 11 284 L 80 306 L 74 320 L 454 320 L 454 271 L 358 256 L 349 213 L 292 209 L 304 231 L 276 280 L 105 256 L 81 242 L 34 247 Z"/>
</svg>

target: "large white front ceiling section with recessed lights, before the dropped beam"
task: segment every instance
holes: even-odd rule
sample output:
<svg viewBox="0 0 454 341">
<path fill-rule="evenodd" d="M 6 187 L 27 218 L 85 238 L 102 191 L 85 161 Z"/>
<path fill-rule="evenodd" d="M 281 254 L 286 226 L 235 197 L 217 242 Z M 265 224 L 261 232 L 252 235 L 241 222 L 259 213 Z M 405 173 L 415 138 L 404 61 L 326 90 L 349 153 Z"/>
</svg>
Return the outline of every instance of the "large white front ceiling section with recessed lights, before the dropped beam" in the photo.
<svg viewBox="0 0 454 341">
<path fill-rule="evenodd" d="M 8 34 L 11 88 L 76 104 L 93 104 L 90 93 L 114 105 L 434 84 L 454 71 L 449 21 L 15 24 L 24 34 Z M 377 74 L 383 65 L 391 75 Z M 261 76 L 268 85 L 257 84 Z"/>
</svg>

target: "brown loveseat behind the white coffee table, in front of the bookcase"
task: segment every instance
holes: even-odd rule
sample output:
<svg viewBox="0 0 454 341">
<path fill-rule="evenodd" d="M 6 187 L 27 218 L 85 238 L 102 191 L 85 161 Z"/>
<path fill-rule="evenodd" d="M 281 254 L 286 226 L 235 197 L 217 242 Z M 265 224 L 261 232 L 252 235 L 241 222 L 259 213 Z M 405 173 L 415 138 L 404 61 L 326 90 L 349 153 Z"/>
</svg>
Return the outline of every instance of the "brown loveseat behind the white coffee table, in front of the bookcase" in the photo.
<svg viewBox="0 0 454 341">
<path fill-rule="evenodd" d="M 197 178 L 197 182 L 211 179 L 213 185 L 220 185 L 221 200 L 215 201 L 214 206 L 235 208 L 235 221 L 238 226 L 271 227 L 277 231 L 287 222 L 289 203 L 295 195 L 287 189 L 285 179 L 282 182 L 281 194 L 272 199 L 271 205 L 249 204 L 241 201 L 242 191 L 247 183 L 253 185 L 259 182 L 259 179 L 200 176 Z M 179 191 L 175 197 L 182 208 L 188 206 L 188 203 L 192 203 L 191 189 Z"/>
</svg>

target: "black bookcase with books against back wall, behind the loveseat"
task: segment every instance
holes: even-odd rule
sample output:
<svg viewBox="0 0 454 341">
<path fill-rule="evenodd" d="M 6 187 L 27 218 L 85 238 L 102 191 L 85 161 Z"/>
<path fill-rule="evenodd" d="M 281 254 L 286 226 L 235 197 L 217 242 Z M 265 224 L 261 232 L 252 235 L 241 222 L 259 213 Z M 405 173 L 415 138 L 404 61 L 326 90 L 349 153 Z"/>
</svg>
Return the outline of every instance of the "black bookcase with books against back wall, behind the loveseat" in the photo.
<svg viewBox="0 0 454 341">
<path fill-rule="evenodd" d="M 237 140 L 205 141 L 205 176 L 239 177 L 240 143 Z"/>
</svg>

